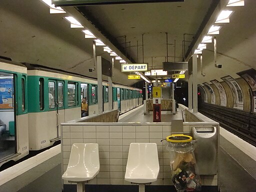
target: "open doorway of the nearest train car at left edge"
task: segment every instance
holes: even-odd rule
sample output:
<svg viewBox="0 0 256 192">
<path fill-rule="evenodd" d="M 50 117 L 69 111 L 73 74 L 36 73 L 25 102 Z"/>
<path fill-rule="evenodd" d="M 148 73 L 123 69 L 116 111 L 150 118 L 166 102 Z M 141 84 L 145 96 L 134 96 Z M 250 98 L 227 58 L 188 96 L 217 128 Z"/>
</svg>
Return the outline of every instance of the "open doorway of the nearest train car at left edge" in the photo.
<svg viewBox="0 0 256 192">
<path fill-rule="evenodd" d="M 16 153 L 17 150 L 14 82 L 16 83 L 14 74 L 0 71 L 0 159 Z M 20 92 L 24 90 L 24 79 L 22 79 L 21 85 Z M 23 95 L 22 101 L 24 101 Z M 22 111 L 23 109 L 24 104 Z"/>
</svg>

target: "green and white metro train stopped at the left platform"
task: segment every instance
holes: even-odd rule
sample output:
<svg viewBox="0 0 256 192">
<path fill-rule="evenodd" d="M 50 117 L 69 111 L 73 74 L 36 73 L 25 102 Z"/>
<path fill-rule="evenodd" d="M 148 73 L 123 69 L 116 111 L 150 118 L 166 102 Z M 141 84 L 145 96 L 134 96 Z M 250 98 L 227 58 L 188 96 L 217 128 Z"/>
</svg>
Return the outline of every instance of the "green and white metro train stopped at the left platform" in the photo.
<svg viewBox="0 0 256 192">
<path fill-rule="evenodd" d="M 108 91 L 103 81 L 103 111 Z M 120 113 L 142 104 L 139 88 L 113 83 L 112 95 Z M 88 115 L 98 113 L 96 79 L 0 59 L 0 166 L 60 140 L 60 123 L 81 117 L 82 97 Z"/>
</svg>

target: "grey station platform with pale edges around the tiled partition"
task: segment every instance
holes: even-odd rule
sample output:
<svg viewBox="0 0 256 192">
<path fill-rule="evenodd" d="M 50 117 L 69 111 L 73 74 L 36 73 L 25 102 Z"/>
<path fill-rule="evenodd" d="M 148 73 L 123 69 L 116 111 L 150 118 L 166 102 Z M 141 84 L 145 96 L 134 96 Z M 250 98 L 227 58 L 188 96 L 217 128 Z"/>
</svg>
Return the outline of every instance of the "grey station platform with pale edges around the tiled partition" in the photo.
<svg viewBox="0 0 256 192">
<path fill-rule="evenodd" d="M 163 114 L 162 121 L 170 121 L 181 115 Z M 144 115 L 143 107 L 137 107 L 120 115 L 122 122 L 152 122 L 152 115 Z M 218 151 L 218 179 L 220 191 L 252 192 L 256 188 L 256 147 L 220 127 L 220 149 Z M 54 146 L 34 157 L 20 162 L 0 172 L 0 191 L 61 191 L 61 151 L 60 145 Z M 118 185 L 86 185 L 87 192 L 123 192 L 136 190 L 135 185 L 125 185 L 127 190 Z M 65 190 L 67 191 L 67 190 Z M 76 191 L 75 185 L 68 191 Z M 146 187 L 146 191 L 158 191 Z M 170 186 L 162 186 L 161 191 L 175 191 Z M 209 192 L 208 190 L 202 190 Z"/>
</svg>

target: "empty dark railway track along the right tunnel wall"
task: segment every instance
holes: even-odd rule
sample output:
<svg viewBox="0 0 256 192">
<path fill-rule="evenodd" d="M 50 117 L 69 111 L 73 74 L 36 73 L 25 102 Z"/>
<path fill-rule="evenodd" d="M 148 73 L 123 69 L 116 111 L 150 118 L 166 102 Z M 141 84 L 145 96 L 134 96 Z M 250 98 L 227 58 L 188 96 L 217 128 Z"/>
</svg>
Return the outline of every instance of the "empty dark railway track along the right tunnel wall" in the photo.
<svg viewBox="0 0 256 192">
<path fill-rule="evenodd" d="M 200 103 L 198 111 L 220 126 L 256 146 L 256 115 L 234 108 Z"/>
</svg>

